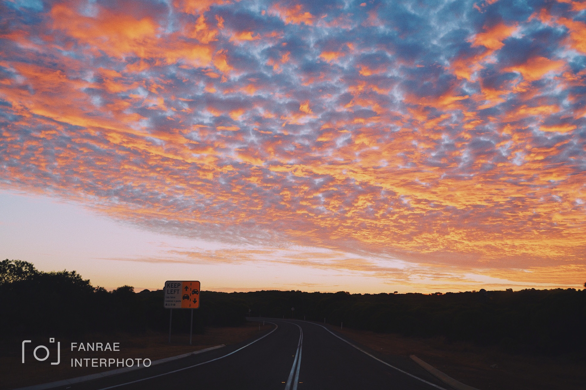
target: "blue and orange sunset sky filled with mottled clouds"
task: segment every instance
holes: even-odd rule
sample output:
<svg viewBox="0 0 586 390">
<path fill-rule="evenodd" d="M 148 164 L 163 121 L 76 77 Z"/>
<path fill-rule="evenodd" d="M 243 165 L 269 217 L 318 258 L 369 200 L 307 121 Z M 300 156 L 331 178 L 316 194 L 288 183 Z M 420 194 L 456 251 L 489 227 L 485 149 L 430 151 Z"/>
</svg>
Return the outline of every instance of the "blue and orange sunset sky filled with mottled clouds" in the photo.
<svg viewBox="0 0 586 390">
<path fill-rule="evenodd" d="M 586 281 L 586 3 L 0 2 L 0 257 L 94 285 Z"/>
</svg>

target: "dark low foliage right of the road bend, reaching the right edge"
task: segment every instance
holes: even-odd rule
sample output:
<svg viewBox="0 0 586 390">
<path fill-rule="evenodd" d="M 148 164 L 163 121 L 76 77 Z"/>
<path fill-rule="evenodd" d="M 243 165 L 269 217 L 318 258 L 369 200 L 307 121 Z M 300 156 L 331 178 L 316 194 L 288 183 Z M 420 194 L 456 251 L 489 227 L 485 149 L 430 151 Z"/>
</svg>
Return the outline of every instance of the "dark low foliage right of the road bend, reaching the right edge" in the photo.
<svg viewBox="0 0 586 390">
<path fill-rule="evenodd" d="M 405 336 L 500 345 L 510 352 L 584 354 L 586 289 L 447 294 L 240 292 L 252 316 L 303 319 Z M 295 310 L 292 311 L 291 308 Z"/>
</svg>

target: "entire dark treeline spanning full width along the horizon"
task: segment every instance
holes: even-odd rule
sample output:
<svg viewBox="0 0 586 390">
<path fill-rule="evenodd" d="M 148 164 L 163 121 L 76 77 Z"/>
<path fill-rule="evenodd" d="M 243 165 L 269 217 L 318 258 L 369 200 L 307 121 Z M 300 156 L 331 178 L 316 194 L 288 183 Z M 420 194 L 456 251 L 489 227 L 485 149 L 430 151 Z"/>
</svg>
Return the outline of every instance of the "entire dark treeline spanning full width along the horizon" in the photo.
<svg viewBox="0 0 586 390">
<path fill-rule="evenodd" d="M 511 352 L 584 356 L 586 351 L 586 289 L 432 295 L 202 291 L 200 299 L 194 332 L 209 325 L 241 325 L 246 315 L 305 317 L 358 330 L 497 345 Z M 0 261 L 3 334 L 166 331 L 169 310 L 162 302 L 162 291 L 135 293 L 123 286 L 108 292 L 75 271 L 39 272 L 30 263 Z M 189 310 L 173 310 L 173 329 L 188 331 Z"/>
</svg>

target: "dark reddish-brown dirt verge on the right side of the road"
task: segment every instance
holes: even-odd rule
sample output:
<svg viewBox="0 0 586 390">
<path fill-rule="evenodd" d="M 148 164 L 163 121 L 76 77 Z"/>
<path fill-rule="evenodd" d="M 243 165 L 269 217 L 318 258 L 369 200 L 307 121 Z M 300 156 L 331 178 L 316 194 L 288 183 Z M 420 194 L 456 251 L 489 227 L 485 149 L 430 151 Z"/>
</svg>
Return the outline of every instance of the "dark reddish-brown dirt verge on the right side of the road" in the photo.
<svg viewBox="0 0 586 390">
<path fill-rule="evenodd" d="M 586 389 L 586 361 L 570 357 L 507 354 L 445 339 L 418 339 L 332 327 L 379 357 L 415 355 L 450 377 L 480 390 Z"/>
</svg>

